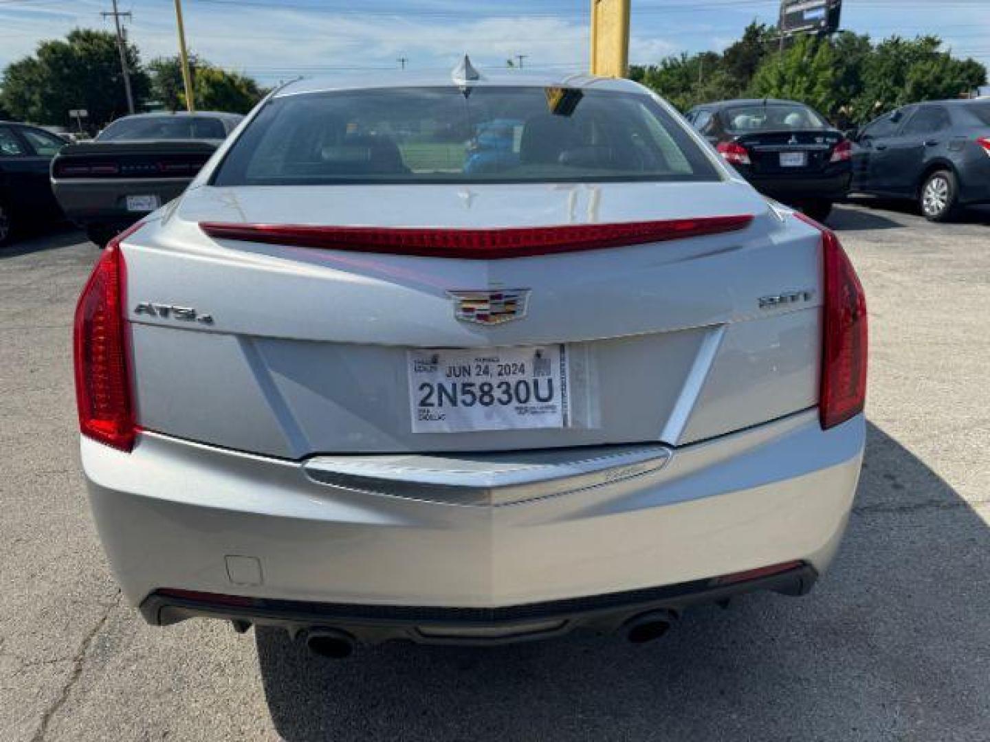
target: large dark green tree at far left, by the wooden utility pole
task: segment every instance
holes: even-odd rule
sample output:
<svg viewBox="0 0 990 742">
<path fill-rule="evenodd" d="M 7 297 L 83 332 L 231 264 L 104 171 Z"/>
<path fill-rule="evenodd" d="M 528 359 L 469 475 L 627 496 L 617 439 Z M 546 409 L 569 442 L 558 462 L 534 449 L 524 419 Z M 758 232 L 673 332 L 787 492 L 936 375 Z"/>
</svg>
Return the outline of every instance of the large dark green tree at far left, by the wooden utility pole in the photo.
<svg viewBox="0 0 990 742">
<path fill-rule="evenodd" d="M 148 74 L 138 48 L 127 45 L 136 105 L 148 97 Z M 113 34 L 75 29 L 64 41 L 38 45 L 34 55 L 7 66 L 0 106 L 22 121 L 69 126 L 68 112 L 84 108 L 87 125 L 99 129 L 128 113 L 117 40 Z"/>
</svg>

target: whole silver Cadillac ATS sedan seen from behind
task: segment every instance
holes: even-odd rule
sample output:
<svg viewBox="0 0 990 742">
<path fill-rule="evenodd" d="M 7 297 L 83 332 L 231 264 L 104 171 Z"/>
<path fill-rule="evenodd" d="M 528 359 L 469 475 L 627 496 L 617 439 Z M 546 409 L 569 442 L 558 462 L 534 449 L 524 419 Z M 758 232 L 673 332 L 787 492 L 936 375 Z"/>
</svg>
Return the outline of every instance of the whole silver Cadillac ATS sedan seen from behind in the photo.
<svg viewBox="0 0 990 742">
<path fill-rule="evenodd" d="M 152 624 L 645 641 L 828 567 L 866 342 L 836 235 L 636 83 L 294 82 L 94 268 L 82 463 Z"/>
</svg>

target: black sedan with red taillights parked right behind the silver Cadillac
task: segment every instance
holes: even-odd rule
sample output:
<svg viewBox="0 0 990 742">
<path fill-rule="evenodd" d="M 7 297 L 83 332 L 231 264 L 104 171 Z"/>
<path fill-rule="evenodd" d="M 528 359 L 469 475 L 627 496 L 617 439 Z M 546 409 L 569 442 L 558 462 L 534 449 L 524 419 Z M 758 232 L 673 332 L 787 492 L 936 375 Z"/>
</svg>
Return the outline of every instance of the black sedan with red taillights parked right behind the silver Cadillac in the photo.
<svg viewBox="0 0 990 742">
<path fill-rule="evenodd" d="M 740 174 L 767 196 L 819 221 L 849 188 L 851 144 L 826 119 L 795 101 L 706 103 L 687 113 Z"/>
</svg>

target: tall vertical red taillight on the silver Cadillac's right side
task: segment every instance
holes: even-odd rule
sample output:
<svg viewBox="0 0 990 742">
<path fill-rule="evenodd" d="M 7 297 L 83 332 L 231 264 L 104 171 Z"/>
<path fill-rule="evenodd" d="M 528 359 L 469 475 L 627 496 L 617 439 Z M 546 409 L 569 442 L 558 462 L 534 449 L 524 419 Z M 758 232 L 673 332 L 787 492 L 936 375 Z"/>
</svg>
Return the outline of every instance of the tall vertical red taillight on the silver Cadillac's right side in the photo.
<svg viewBox="0 0 990 742">
<path fill-rule="evenodd" d="M 825 313 L 819 405 L 827 430 L 859 415 L 866 403 L 866 295 L 836 232 L 803 214 L 794 216 L 822 232 Z"/>
</svg>

